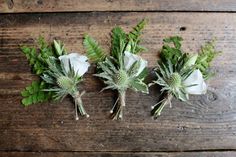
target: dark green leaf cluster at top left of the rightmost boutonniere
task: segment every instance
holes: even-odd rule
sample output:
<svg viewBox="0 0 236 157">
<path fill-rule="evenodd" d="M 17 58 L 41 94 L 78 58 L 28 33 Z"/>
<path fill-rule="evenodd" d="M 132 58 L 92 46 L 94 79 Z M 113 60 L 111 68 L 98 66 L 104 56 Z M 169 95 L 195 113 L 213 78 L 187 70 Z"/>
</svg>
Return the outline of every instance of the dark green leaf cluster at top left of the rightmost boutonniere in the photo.
<svg viewBox="0 0 236 157">
<path fill-rule="evenodd" d="M 170 60 L 172 64 L 176 64 L 178 59 L 182 56 L 181 41 L 183 39 L 179 36 L 173 36 L 164 39 L 164 45 L 162 46 L 160 57 L 161 60 Z"/>
</svg>

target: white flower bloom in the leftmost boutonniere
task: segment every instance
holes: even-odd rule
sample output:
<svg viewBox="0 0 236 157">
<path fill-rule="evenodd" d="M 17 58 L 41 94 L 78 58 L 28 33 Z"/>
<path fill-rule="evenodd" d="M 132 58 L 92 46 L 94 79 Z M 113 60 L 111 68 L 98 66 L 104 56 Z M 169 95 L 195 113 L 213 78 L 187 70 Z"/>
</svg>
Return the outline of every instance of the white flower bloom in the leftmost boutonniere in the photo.
<svg viewBox="0 0 236 157">
<path fill-rule="evenodd" d="M 69 72 L 70 62 L 71 67 L 79 76 L 83 76 L 84 73 L 88 71 L 88 67 L 90 66 L 88 63 L 88 58 L 84 55 L 79 55 L 78 53 L 70 53 L 68 55 L 60 56 L 59 60 L 63 63 L 66 72 Z"/>
</svg>

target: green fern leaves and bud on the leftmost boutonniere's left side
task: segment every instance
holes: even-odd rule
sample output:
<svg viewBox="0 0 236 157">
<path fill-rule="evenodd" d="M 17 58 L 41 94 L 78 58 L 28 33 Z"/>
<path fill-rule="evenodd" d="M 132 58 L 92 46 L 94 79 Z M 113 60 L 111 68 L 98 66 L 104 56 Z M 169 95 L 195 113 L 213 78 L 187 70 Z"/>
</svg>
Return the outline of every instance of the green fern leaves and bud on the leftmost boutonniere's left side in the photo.
<svg viewBox="0 0 236 157">
<path fill-rule="evenodd" d="M 46 43 L 43 37 L 39 37 L 38 39 L 38 48 L 21 46 L 21 50 L 26 55 L 35 74 L 42 75 L 48 70 L 47 60 L 50 57 L 58 57 L 66 53 L 60 42 L 54 41 L 54 44 L 56 53 L 53 51 L 52 47 Z M 50 85 L 43 80 L 33 81 L 32 84 L 26 87 L 21 93 L 24 97 L 22 104 L 29 106 L 38 102 L 47 101 L 52 97 L 52 93 L 42 90 L 49 87 Z"/>
</svg>

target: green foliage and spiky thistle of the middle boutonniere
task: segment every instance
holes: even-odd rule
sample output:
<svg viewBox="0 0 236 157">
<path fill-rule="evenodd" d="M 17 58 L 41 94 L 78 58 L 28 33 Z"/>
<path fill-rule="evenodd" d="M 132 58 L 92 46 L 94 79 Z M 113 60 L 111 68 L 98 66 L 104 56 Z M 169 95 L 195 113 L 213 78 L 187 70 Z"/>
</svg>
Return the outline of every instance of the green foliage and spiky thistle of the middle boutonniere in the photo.
<svg viewBox="0 0 236 157">
<path fill-rule="evenodd" d="M 98 61 L 98 68 L 101 70 L 101 73 L 96 74 L 95 76 L 104 79 L 104 83 L 107 84 L 107 87 L 104 89 L 125 91 L 127 88 L 132 88 L 135 91 L 142 91 L 145 93 L 148 92 L 147 85 L 143 83 L 143 80 L 148 73 L 147 69 L 145 68 L 139 76 L 136 76 L 138 69 L 140 68 L 140 62 L 135 62 L 129 70 L 125 70 L 123 66 L 124 51 L 129 51 L 131 53 L 140 52 L 140 35 L 146 25 L 146 22 L 146 20 L 142 20 L 128 34 L 126 34 L 120 27 L 115 27 L 112 29 L 111 56 L 105 56 L 105 59 L 103 60 L 99 60 L 100 58 L 103 58 L 103 55 L 97 55 L 100 54 L 100 51 L 98 51 L 98 53 L 94 53 L 96 51 L 94 51 L 94 48 L 91 48 L 98 47 L 98 44 L 91 37 L 85 37 L 85 48 L 87 49 L 87 52 L 91 52 L 88 53 L 88 55 L 92 56 L 89 58 L 93 58 L 93 56 L 102 56 L 94 57 L 96 58 L 95 60 Z"/>
</svg>

